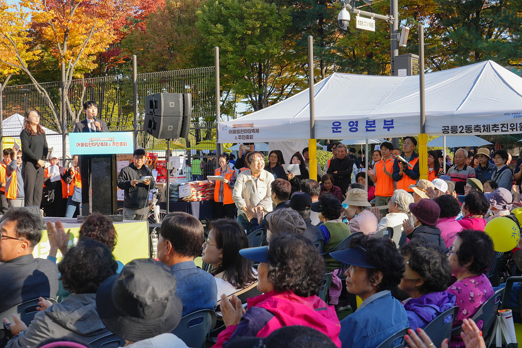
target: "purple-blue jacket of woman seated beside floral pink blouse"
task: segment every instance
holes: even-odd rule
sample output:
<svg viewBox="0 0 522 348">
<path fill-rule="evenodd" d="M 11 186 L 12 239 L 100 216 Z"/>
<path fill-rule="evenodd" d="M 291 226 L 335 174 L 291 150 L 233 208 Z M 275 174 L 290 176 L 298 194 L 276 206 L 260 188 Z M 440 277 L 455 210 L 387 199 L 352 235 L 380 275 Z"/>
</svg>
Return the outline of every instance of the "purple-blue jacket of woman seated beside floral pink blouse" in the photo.
<svg viewBox="0 0 522 348">
<path fill-rule="evenodd" d="M 410 328 L 424 328 L 443 311 L 455 306 L 456 296 L 454 294 L 433 292 L 417 298 L 409 298 L 404 303 Z"/>
</svg>

